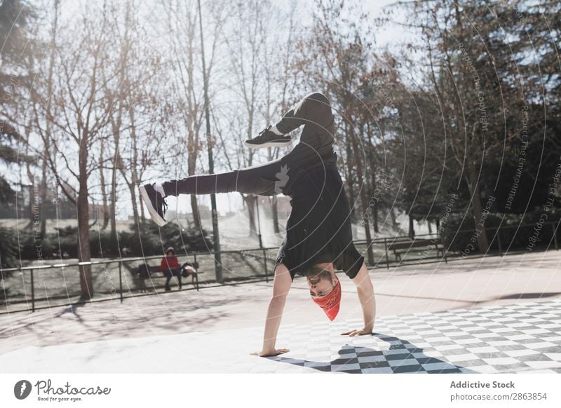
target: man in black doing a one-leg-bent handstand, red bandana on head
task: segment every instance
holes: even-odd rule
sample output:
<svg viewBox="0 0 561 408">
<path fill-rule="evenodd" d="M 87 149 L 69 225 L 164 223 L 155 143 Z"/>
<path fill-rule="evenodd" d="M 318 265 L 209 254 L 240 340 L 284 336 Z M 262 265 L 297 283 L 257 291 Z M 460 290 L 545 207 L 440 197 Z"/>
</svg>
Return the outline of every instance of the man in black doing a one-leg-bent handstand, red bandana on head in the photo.
<svg viewBox="0 0 561 408">
<path fill-rule="evenodd" d="M 288 351 L 276 348 L 276 336 L 290 285 L 297 273 L 307 278 L 310 295 L 330 320 L 339 312 L 341 284 L 335 270 L 355 283 L 363 308 L 364 327 L 342 334 L 371 334 L 376 302 L 374 287 L 361 255 L 353 244 L 351 211 L 337 171 L 333 149 L 334 116 L 323 93 L 310 93 L 295 104 L 276 125 L 245 141 L 250 149 L 288 146 L 286 136 L 304 125 L 300 142 L 289 154 L 269 163 L 213 175 L 194 175 L 163 184 L 145 184 L 140 193 L 158 225 L 166 221 L 165 197 L 179 194 L 240 193 L 290 196 L 292 211 L 278 249 L 273 296 L 267 311 L 261 356 Z"/>
</svg>

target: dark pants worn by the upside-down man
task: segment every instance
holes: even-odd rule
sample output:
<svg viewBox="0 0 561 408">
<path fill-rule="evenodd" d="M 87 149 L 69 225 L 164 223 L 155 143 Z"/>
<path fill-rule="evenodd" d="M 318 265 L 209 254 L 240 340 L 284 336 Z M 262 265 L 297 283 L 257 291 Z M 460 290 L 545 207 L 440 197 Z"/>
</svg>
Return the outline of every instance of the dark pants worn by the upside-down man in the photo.
<svg viewBox="0 0 561 408">
<path fill-rule="evenodd" d="M 162 184 L 166 196 L 180 194 L 239 193 L 272 196 L 285 193 L 290 178 L 303 168 L 333 154 L 334 118 L 322 93 L 310 93 L 283 116 L 276 127 L 283 134 L 304 125 L 300 142 L 283 158 L 269 163 L 213 175 L 193 175 Z"/>
</svg>

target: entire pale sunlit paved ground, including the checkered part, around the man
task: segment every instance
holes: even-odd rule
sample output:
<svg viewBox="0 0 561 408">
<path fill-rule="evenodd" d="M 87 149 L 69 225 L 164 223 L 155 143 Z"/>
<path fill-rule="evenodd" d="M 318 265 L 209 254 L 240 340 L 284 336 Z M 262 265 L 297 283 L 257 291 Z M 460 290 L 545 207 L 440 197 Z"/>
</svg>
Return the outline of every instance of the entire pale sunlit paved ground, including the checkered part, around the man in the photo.
<svg viewBox="0 0 561 408">
<path fill-rule="evenodd" d="M 422 365 L 414 372 L 555 371 L 561 367 L 561 320 L 555 314 L 561 301 L 560 255 L 536 252 L 370 271 L 377 322 L 373 336 L 360 338 L 340 334 L 361 325 L 351 280 L 341 276 L 342 307 L 330 322 L 311 302 L 305 280 L 297 278 L 277 343 L 291 352 L 270 359 L 248 354 L 262 344 L 272 283 L 0 315 L 0 372 L 399 372 L 389 358 L 392 348 L 414 348 L 416 365 L 404 357 L 400 361 L 410 365 L 398 367 Z M 478 334 L 482 315 L 492 333 Z M 435 319 L 448 327 L 447 339 L 429 339 L 426 325 L 434 329 Z M 411 330 L 420 320 L 424 326 Z M 466 322 L 475 326 L 469 329 Z M 466 336 L 452 339 L 461 334 Z M 534 337 L 548 336 L 549 342 L 533 343 Z M 475 344 L 484 337 L 485 345 Z M 489 346 L 491 341 L 496 344 Z M 469 344 L 473 349 L 464 353 Z M 471 363 L 459 365 L 445 352 L 459 351 L 459 345 L 462 356 L 471 353 Z M 533 357 L 519 358 L 529 354 Z M 338 355 L 350 357 L 339 361 Z"/>
</svg>

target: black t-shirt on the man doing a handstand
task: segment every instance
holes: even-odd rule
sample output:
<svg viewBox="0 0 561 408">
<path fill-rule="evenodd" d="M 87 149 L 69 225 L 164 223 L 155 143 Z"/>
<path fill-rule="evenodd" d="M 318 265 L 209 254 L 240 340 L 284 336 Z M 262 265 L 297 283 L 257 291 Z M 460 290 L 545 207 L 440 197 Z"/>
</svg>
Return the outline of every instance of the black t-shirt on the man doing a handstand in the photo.
<svg viewBox="0 0 561 408">
<path fill-rule="evenodd" d="M 294 279 L 320 262 L 354 278 L 364 257 L 353 244 L 351 210 L 334 161 L 306 168 L 290 186 L 292 212 L 277 254 Z"/>
</svg>

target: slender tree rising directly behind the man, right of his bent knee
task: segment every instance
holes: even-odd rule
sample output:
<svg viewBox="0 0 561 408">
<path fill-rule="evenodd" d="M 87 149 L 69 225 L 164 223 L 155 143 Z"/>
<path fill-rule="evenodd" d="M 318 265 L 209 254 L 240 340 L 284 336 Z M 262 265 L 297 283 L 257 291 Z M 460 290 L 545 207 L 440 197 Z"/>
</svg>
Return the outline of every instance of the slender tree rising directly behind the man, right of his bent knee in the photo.
<svg viewBox="0 0 561 408">
<path fill-rule="evenodd" d="M 342 27 L 344 13 L 356 15 L 356 19 L 365 32 L 360 32 L 357 25 L 351 25 L 351 29 Z M 339 121 L 339 133 L 342 136 L 342 144 L 345 149 L 347 164 L 347 187 L 350 196 L 351 208 L 355 200 L 355 187 L 358 188 L 358 198 L 363 214 L 369 210 L 369 199 L 366 196 L 367 179 L 366 156 L 364 140 L 357 135 L 360 125 L 360 114 L 364 109 L 358 100 L 360 85 L 365 72 L 370 72 L 373 60 L 371 44 L 372 34 L 367 25 L 367 15 L 360 13 L 357 7 L 345 10 L 344 4 L 337 1 L 316 1 L 316 13 L 314 13 L 313 35 L 303 39 L 299 47 L 304 50 L 299 65 L 306 69 L 308 75 L 313 73 L 325 83 L 327 93 L 332 95 L 337 109 L 341 112 L 342 121 Z M 356 180 L 356 186 L 353 181 Z M 372 252 L 372 236 L 370 222 L 364 224 L 367 240 L 367 260 L 369 264 L 374 263 Z"/>
</svg>

